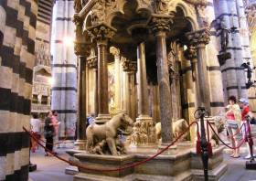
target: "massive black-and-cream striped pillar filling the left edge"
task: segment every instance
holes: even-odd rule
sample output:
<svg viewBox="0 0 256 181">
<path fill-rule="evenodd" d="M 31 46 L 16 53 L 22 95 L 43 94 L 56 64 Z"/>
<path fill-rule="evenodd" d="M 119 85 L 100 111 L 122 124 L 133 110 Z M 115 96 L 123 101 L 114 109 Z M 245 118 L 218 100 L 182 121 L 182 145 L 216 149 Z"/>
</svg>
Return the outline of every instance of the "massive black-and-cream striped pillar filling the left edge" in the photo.
<svg viewBox="0 0 256 181">
<path fill-rule="evenodd" d="M 0 1 L 0 180 L 28 180 L 37 1 Z"/>
</svg>

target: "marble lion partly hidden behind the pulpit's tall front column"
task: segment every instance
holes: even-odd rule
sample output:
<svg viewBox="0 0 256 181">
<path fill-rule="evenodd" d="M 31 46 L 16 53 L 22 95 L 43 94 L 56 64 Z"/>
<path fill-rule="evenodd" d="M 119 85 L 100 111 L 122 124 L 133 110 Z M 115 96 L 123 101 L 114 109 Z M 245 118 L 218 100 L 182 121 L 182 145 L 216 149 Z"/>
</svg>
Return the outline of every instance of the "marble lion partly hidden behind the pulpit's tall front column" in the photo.
<svg viewBox="0 0 256 181">
<path fill-rule="evenodd" d="M 177 120 L 173 122 L 173 135 L 176 138 L 180 133 L 183 133 L 188 128 L 187 121 L 185 119 Z M 161 139 L 161 122 L 157 122 L 155 124 L 156 137 L 158 140 Z M 184 140 L 187 137 L 187 133 L 185 133 L 180 140 Z"/>
</svg>

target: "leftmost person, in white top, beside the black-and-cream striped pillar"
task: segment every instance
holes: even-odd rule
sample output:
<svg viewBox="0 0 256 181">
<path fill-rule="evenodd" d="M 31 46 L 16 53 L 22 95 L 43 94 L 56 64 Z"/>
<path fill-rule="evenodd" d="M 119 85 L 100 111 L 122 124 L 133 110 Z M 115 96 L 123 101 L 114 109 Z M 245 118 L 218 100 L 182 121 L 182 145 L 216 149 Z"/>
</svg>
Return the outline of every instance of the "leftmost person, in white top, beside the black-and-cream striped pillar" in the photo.
<svg viewBox="0 0 256 181">
<path fill-rule="evenodd" d="M 30 125 L 31 125 L 31 131 L 33 132 L 32 134 L 34 135 L 34 137 L 37 140 L 40 139 L 40 137 L 41 137 L 41 135 L 40 135 L 41 121 L 38 119 L 37 113 L 32 114 L 32 118 L 30 120 Z M 37 141 L 34 139 L 31 139 L 31 151 L 33 153 L 35 153 L 37 146 L 38 146 Z"/>
</svg>

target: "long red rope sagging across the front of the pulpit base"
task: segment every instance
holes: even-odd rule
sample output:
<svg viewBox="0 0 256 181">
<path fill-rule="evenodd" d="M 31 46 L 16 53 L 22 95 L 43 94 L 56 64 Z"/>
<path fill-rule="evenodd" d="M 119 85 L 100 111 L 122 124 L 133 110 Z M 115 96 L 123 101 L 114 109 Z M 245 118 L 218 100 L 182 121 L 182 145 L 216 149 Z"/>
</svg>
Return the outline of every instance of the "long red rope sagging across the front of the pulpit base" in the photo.
<svg viewBox="0 0 256 181">
<path fill-rule="evenodd" d="M 142 161 L 139 161 L 139 162 L 135 162 L 133 164 L 130 164 L 130 165 L 124 165 L 123 167 L 120 167 L 120 168 L 113 168 L 113 169 L 97 169 L 97 168 L 91 168 L 91 167 L 87 167 L 87 166 L 84 166 L 84 165 L 79 165 L 77 163 L 71 163 L 69 162 L 68 160 L 64 159 L 64 158 L 61 158 L 59 155 L 57 154 L 54 154 L 52 151 L 48 150 L 48 148 L 46 148 L 43 144 L 39 143 L 37 138 L 31 134 L 30 132 L 27 131 L 27 129 L 25 127 L 23 127 L 23 130 L 28 133 L 30 135 L 30 137 L 32 137 L 36 142 L 37 144 L 39 144 L 41 147 L 45 148 L 47 150 L 48 153 L 50 154 L 53 154 L 55 157 L 57 157 L 59 160 L 69 164 L 69 165 L 74 165 L 74 166 L 78 166 L 80 167 L 81 169 L 85 169 L 85 170 L 90 170 L 90 171 L 96 171 L 96 172 L 116 172 L 116 171 L 123 171 L 125 169 L 128 169 L 128 168 L 133 168 L 135 166 L 138 166 L 138 165 L 142 165 L 146 162 L 149 162 L 151 160 L 153 160 L 156 156 L 160 155 L 160 154 L 163 154 L 170 146 L 176 144 L 176 142 L 185 134 L 187 133 L 187 131 L 189 131 L 189 128 L 193 125 L 193 124 L 197 124 L 197 135 L 198 135 L 198 122 L 191 122 L 189 125 L 188 125 L 188 128 L 185 132 L 183 133 L 180 133 L 177 138 L 175 139 L 175 141 L 169 145 L 167 145 L 165 148 L 163 148 L 161 151 L 159 151 L 158 153 L 156 153 L 155 155 L 149 157 L 149 158 L 146 158 Z M 199 138 L 198 138 L 199 139 Z"/>
</svg>

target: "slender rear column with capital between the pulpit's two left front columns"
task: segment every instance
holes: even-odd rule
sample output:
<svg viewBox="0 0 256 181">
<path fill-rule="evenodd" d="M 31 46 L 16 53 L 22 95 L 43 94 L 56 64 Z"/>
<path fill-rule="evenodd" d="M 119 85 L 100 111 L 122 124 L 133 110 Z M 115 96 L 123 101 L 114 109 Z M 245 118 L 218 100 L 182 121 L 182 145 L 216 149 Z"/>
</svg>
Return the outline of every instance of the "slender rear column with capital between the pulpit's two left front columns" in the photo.
<svg viewBox="0 0 256 181">
<path fill-rule="evenodd" d="M 98 70 L 97 70 L 97 56 L 91 56 L 87 59 L 87 64 L 88 67 L 90 69 L 93 69 L 94 71 L 94 78 L 95 78 L 95 82 L 94 82 L 94 115 L 95 117 L 98 116 L 98 112 L 99 112 L 99 105 L 98 105 Z"/>
</svg>

